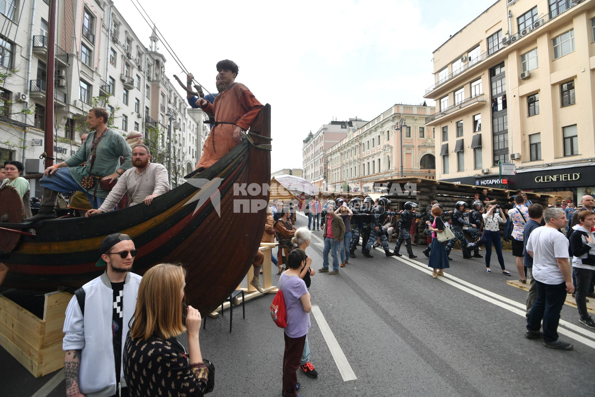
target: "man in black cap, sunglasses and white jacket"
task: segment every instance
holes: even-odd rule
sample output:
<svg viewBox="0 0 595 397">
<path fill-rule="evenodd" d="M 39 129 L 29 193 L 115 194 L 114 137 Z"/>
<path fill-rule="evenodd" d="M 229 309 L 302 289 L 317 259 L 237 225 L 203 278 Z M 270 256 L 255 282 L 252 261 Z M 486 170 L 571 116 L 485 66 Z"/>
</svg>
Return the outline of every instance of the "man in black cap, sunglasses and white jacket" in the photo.
<svg viewBox="0 0 595 397">
<path fill-rule="evenodd" d="M 130 273 L 139 250 L 114 233 L 99 246 L 105 272 L 76 290 L 68 303 L 62 340 L 68 396 L 128 396 L 122 370 L 124 340 L 134 315 L 140 277 Z"/>
</svg>

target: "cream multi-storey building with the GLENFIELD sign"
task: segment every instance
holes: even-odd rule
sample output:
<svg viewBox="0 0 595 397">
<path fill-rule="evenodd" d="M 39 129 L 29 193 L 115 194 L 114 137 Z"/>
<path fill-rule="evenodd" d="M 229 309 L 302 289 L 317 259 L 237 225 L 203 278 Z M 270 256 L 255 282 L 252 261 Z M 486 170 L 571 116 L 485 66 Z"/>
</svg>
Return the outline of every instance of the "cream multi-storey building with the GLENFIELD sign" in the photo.
<svg viewBox="0 0 595 397">
<path fill-rule="evenodd" d="M 433 54 L 437 179 L 591 191 L 595 1 L 499 0 Z M 500 179 L 499 162 L 516 174 Z"/>
</svg>

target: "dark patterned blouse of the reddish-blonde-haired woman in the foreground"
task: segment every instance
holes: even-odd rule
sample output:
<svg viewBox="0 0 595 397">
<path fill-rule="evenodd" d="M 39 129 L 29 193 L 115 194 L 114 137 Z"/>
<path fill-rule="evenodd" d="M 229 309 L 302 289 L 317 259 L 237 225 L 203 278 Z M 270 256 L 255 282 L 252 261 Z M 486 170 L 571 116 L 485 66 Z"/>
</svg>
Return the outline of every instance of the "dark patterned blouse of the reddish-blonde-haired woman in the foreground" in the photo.
<svg viewBox="0 0 595 397">
<path fill-rule="evenodd" d="M 208 369 L 202 362 L 190 366 L 186 351 L 175 337 L 133 340 L 124 345 L 124 379 L 131 397 L 203 396 Z"/>
</svg>

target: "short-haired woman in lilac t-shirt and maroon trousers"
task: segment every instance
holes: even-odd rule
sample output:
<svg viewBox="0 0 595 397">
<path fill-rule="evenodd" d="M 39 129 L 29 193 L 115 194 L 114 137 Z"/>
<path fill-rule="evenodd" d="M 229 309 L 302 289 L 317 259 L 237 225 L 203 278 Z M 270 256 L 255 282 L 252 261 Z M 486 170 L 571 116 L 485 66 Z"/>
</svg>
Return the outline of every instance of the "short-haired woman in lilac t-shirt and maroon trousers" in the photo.
<svg viewBox="0 0 595 397">
<path fill-rule="evenodd" d="M 303 268 L 309 268 L 311 258 L 306 258 L 301 249 L 294 249 L 289 254 L 287 270 L 279 278 L 279 290 L 283 291 L 287 326 L 283 329 L 285 350 L 283 352 L 283 391 L 284 397 L 297 397 L 300 384 L 296 371 L 300 366 L 306 335 L 311 327 L 310 311 L 312 304 L 306 283 L 299 274 Z"/>
</svg>

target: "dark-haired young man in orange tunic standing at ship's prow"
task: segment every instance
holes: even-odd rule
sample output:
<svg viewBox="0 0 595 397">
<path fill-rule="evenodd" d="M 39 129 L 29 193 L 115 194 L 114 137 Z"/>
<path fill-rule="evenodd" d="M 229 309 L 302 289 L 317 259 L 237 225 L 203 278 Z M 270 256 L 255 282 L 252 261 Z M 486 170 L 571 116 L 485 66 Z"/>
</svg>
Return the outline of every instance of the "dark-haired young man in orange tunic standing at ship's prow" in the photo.
<svg viewBox="0 0 595 397">
<path fill-rule="evenodd" d="M 249 129 L 263 108 L 248 87 L 236 83 L 238 70 L 233 61 L 217 62 L 219 79 L 226 89 L 217 95 L 212 105 L 203 98 L 196 101 L 196 105 L 203 111 L 215 115 L 215 125 L 202 146 L 201 160 L 196 164 L 195 170 L 211 167 L 242 142 L 240 133 Z"/>
</svg>

